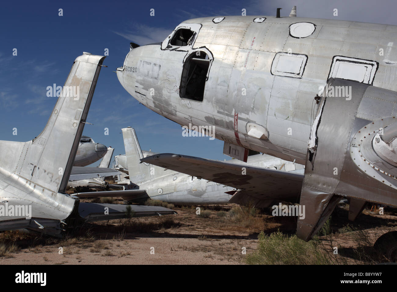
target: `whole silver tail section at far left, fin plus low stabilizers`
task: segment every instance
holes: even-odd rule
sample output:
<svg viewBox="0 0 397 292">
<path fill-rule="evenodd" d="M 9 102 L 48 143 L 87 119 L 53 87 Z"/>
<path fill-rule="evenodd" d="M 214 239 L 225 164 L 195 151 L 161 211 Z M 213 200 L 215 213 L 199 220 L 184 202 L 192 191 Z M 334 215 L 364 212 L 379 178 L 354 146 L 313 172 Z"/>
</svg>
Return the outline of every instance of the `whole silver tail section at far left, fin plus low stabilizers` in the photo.
<svg viewBox="0 0 397 292">
<path fill-rule="evenodd" d="M 0 141 L 0 230 L 62 236 L 87 221 L 127 216 L 125 205 L 82 203 L 65 193 L 104 58 L 83 53 L 75 59 L 64 91 L 37 137 Z M 73 86 L 80 88 L 77 99 L 67 93 Z M 175 213 L 162 207 L 131 207 L 135 216 Z"/>
</svg>

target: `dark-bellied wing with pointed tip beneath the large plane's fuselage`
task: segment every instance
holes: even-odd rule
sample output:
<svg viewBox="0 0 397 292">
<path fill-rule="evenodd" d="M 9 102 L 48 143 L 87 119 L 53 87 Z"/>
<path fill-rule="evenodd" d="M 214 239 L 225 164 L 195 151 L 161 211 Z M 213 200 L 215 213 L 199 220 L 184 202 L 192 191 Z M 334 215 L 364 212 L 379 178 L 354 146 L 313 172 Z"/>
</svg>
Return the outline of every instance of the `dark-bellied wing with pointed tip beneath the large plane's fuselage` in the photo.
<svg viewBox="0 0 397 292">
<path fill-rule="evenodd" d="M 298 202 L 303 183 L 303 174 L 187 155 L 163 153 L 141 161 L 240 189 L 230 202 L 244 204 L 252 201 L 258 208 L 267 207 L 274 200 Z"/>
</svg>

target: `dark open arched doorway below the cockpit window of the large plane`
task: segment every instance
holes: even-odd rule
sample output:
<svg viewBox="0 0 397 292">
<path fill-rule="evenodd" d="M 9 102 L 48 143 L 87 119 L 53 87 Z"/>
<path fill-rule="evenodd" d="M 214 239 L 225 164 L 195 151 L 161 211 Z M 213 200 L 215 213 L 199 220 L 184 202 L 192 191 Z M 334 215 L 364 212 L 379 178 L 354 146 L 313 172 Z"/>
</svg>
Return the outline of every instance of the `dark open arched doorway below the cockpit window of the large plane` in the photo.
<svg viewBox="0 0 397 292">
<path fill-rule="evenodd" d="M 203 51 L 197 51 L 187 58 L 183 65 L 179 95 L 183 99 L 202 101 L 207 80 L 210 59 Z"/>
</svg>

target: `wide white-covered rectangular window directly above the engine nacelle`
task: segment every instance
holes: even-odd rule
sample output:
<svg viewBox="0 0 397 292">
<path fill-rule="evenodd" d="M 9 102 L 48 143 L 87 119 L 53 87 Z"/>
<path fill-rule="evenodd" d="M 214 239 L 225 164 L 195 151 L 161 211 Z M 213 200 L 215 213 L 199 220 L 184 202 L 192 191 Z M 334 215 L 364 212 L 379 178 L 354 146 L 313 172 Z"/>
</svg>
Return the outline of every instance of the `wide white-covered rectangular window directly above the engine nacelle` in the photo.
<svg viewBox="0 0 397 292">
<path fill-rule="evenodd" d="M 328 78 L 341 78 L 372 84 L 376 70 L 378 70 L 376 61 L 334 56 Z"/>
</svg>

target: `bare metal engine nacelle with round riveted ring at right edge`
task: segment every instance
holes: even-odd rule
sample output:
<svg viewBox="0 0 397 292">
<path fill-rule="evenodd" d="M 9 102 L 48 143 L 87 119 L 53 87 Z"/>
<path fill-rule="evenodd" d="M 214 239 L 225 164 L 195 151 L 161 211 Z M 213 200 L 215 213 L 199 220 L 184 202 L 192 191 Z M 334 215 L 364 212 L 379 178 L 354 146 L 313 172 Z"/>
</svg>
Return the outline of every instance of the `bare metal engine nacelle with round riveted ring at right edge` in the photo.
<svg viewBox="0 0 397 292">
<path fill-rule="evenodd" d="M 350 86 L 351 99 L 326 92 L 310 135 L 300 199 L 306 217 L 297 226 L 298 237 L 304 240 L 317 233 L 341 197 L 351 198 L 350 220 L 360 214 L 366 201 L 397 206 L 397 173 L 392 164 L 397 129 L 388 101 L 396 93 L 345 79 L 328 80 L 329 88 L 338 86 Z M 373 100 L 377 104 L 371 115 L 368 107 Z M 383 148 L 372 147 L 381 141 Z"/>
</svg>

